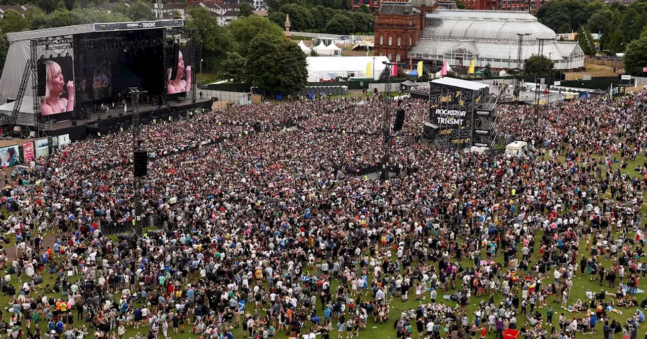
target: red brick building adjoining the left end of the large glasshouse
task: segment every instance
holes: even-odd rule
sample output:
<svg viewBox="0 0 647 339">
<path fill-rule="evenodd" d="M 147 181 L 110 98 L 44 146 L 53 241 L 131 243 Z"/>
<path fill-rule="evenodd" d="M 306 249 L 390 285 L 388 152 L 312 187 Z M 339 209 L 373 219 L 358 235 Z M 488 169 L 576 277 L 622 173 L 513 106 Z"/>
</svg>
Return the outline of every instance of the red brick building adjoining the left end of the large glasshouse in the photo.
<svg viewBox="0 0 647 339">
<path fill-rule="evenodd" d="M 406 61 L 424 28 L 424 15 L 434 8 L 432 0 L 383 1 L 375 12 L 375 55 Z"/>
</svg>

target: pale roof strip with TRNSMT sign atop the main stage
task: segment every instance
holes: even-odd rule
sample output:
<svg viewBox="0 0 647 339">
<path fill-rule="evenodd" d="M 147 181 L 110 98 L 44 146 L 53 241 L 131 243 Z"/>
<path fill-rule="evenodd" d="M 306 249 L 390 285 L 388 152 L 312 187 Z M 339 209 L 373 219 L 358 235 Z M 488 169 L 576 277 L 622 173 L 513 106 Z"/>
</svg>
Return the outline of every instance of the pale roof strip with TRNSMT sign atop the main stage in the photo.
<svg viewBox="0 0 647 339">
<path fill-rule="evenodd" d="M 71 36 L 74 34 L 109 32 L 115 30 L 142 30 L 154 28 L 182 27 L 182 19 L 155 20 L 155 21 L 133 21 L 130 23 L 89 23 L 85 25 L 63 26 L 54 28 L 43 28 L 42 30 L 28 30 L 27 32 L 14 32 L 6 35 L 10 43 L 15 41 L 41 39 L 44 37 Z"/>
</svg>

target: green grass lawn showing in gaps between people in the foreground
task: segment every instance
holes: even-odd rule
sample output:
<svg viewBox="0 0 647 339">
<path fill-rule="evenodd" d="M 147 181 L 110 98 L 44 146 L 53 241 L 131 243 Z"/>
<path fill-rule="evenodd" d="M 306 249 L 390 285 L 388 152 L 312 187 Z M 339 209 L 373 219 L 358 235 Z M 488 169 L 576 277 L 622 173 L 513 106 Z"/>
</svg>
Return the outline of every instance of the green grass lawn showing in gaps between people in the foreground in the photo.
<svg viewBox="0 0 647 339">
<path fill-rule="evenodd" d="M 633 168 L 636 167 L 637 165 L 642 165 L 643 161 L 644 161 L 644 159 L 642 157 L 637 159 L 636 161 L 632 161 L 627 166 L 627 169 L 622 170 L 622 172 L 624 172 L 626 174 L 629 174 L 630 176 L 636 176 L 637 174 L 636 174 L 636 172 L 633 171 Z M 617 165 L 618 164 L 615 164 L 614 166 L 617 166 Z M 643 214 L 645 212 L 644 206 L 643 206 L 642 212 L 643 212 Z M 536 239 L 540 239 L 540 237 L 541 237 L 541 232 L 540 232 L 540 234 L 536 234 Z M 111 236 L 111 238 L 116 240 L 116 236 Z M 587 256 L 589 255 L 588 251 L 586 251 L 585 249 L 586 249 L 586 241 L 582 241 L 580 243 L 580 255 L 582 255 L 582 254 L 587 255 Z M 483 252 L 481 254 L 482 254 L 482 257 L 485 258 L 485 252 Z M 521 255 L 519 254 L 519 256 L 521 256 Z M 532 255 L 531 262 L 536 262 L 536 260 L 538 260 L 538 246 L 536 246 L 536 248 L 535 248 L 535 252 Z M 644 262 L 644 259 L 641 259 L 641 260 Z M 503 263 L 503 256 L 501 255 L 501 256 L 499 256 L 499 258 L 494 258 L 494 261 L 498 262 L 498 263 Z M 610 267 L 611 266 L 611 262 L 603 262 L 603 263 L 604 263 L 605 267 Z M 428 263 L 428 264 L 431 264 L 431 263 Z M 471 265 L 472 265 L 472 262 L 470 260 L 464 260 L 463 261 L 463 266 L 464 267 L 471 267 Z M 371 270 L 369 270 L 369 271 L 371 271 Z M 47 272 L 44 272 L 44 273 L 45 274 L 43 274 L 43 283 L 41 284 L 42 287 L 45 287 L 45 284 L 47 284 L 47 283 L 49 283 L 49 284 L 53 283 L 53 279 L 49 277 L 49 273 L 47 273 Z M 551 271 L 551 273 L 552 273 L 552 271 Z M 578 271 L 578 274 L 579 274 L 579 271 Z M 78 280 L 78 277 L 72 277 L 71 278 L 72 282 L 74 282 L 76 280 Z M 545 281 L 545 283 L 548 283 L 551 280 L 552 280 L 552 274 L 548 274 L 547 278 L 544 281 Z M 570 303 L 575 303 L 576 300 L 578 300 L 578 299 L 583 300 L 583 301 L 586 300 L 586 294 L 585 293 L 586 293 L 587 289 L 591 289 L 591 291 L 593 291 L 593 292 L 599 292 L 600 291 L 599 281 L 594 280 L 593 282 L 589 282 L 589 276 L 586 274 L 586 272 L 585 272 L 584 276 L 576 276 L 574 278 L 573 282 L 574 282 L 573 290 L 571 291 L 571 298 L 569 298 Z M 17 284 L 16 277 L 12 278 L 12 283 L 14 283 L 14 285 Z M 338 282 L 333 282 L 333 286 L 331 288 L 331 291 L 335 291 L 337 284 L 338 284 Z M 643 282 L 643 280 L 641 280 L 641 285 L 639 287 L 641 289 L 646 289 L 645 286 L 646 286 L 646 284 Z M 606 286 L 604 287 L 604 289 L 606 291 L 615 292 L 615 290 L 609 289 Z M 450 289 L 449 293 L 453 294 L 453 293 L 455 293 L 455 291 Z M 37 296 L 39 296 L 39 295 L 41 295 L 41 291 L 37 291 L 35 294 Z M 33 295 L 33 293 L 32 293 L 32 295 Z M 439 291 L 437 302 L 444 302 L 447 305 L 454 305 L 454 302 L 449 302 L 448 300 L 444 300 L 442 298 L 442 295 L 443 295 L 442 291 Z M 48 294 L 48 296 L 50 296 L 52 298 L 60 298 L 60 294 Z M 367 298 L 369 298 L 369 297 L 370 297 L 369 296 L 369 291 L 367 291 L 365 293 L 364 300 L 367 300 Z M 478 303 L 481 300 L 487 300 L 487 298 L 488 297 L 479 298 L 479 297 L 476 297 L 476 296 L 472 296 L 472 298 L 470 300 L 470 305 L 468 305 L 468 314 L 470 315 L 470 320 L 472 319 L 474 311 L 476 310 L 476 305 L 478 305 Z M 647 298 L 646 294 L 644 294 L 644 293 L 637 294 L 637 299 L 639 300 L 639 302 L 641 302 L 645 298 Z M 426 298 L 424 300 L 422 300 L 422 302 L 426 303 L 426 302 L 428 302 L 428 300 L 429 300 L 429 294 L 427 293 Z M 501 300 L 501 294 L 496 294 L 494 296 L 494 300 L 495 300 L 496 303 L 498 303 Z M 554 300 L 554 296 L 550 296 L 548 298 L 547 302 L 549 304 L 553 305 L 553 310 L 554 310 L 554 313 L 555 313 L 554 316 L 553 316 L 553 324 L 552 325 L 558 327 L 558 319 L 559 319 L 560 313 L 564 312 L 566 316 L 569 316 L 571 314 L 568 314 L 567 311 L 562 310 L 560 308 L 560 303 L 553 303 L 553 300 Z M 399 298 L 395 298 L 394 300 L 391 300 L 390 303 L 391 303 L 391 317 L 389 318 L 389 321 L 386 324 L 379 325 L 379 324 L 374 324 L 373 321 L 372 321 L 372 318 L 369 318 L 369 320 L 367 320 L 367 328 L 360 333 L 360 337 L 362 337 L 362 338 L 371 338 L 371 339 L 391 339 L 391 338 L 395 338 L 395 331 L 393 329 L 393 322 L 400 317 L 400 312 L 402 310 L 415 309 L 415 308 L 417 308 L 417 305 L 418 305 L 418 302 L 415 301 L 415 292 L 410 294 L 410 299 L 407 302 L 401 302 L 399 300 Z M 0 295 L 0 304 L 1 305 L 8 305 L 8 298 L 6 296 Z M 319 303 L 318 303 L 317 307 L 318 307 L 318 314 L 321 315 L 322 314 L 322 309 L 321 309 L 321 306 L 320 306 Z M 246 311 L 247 311 L 247 313 L 254 314 L 255 310 L 253 309 L 253 303 L 248 303 Z M 258 311 L 259 311 L 260 314 L 265 314 L 265 311 L 263 309 L 260 309 Z M 542 313 L 544 315 L 544 320 L 545 320 L 545 309 L 540 309 L 539 311 L 540 311 L 540 313 Z M 633 315 L 635 313 L 635 307 L 631 308 L 631 309 L 621 309 L 621 311 L 622 311 L 623 314 L 609 313 L 609 316 L 611 316 L 612 319 L 615 319 L 615 320 L 619 321 L 620 323 L 624 323 L 628 318 L 630 318 L 631 315 Z M 76 320 L 76 309 L 74 309 L 72 311 L 72 313 L 74 314 L 74 318 Z M 575 314 L 575 315 L 579 317 L 579 316 L 582 316 L 583 314 L 580 313 L 580 314 Z M 9 320 L 10 313 L 8 313 L 8 312 L 7 313 L 2 313 L 2 316 L 3 316 L 3 320 Z M 43 319 L 44 319 L 44 317 L 43 317 Z M 523 316 L 518 316 L 518 323 L 517 323 L 518 327 L 521 327 L 521 325 L 523 325 L 524 323 L 525 323 L 525 318 L 523 318 Z M 77 322 L 75 325 L 78 326 L 78 325 L 80 325 L 80 323 Z M 333 325 L 336 325 L 336 323 L 333 323 Z M 602 338 L 602 325 L 603 324 L 598 324 L 597 325 L 597 329 L 598 329 L 597 334 L 585 335 L 585 334 L 578 333 L 577 336 L 578 336 L 578 338 L 580 338 L 581 336 L 586 336 L 587 338 L 596 338 L 596 339 L 597 338 Z M 39 324 L 39 327 L 41 328 L 41 333 L 44 334 L 45 333 L 44 331 L 45 331 L 45 329 L 47 327 L 47 322 L 45 322 L 44 320 L 41 320 L 41 322 Z M 302 333 L 307 332 L 307 327 L 309 327 L 309 324 L 306 326 L 306 329 L 302 330 Z M 25 325 L 23 325 L 23 329 L 24 328 L 25 328 Z M 32 329 L 33 328 L 34 327 L 32 326 Z M 170 334 L 171 338 L 181 338 L 181 339 L 197 338 L 198 337 L 197 335 L 190 333 L 189 330 L 191 328 L 192 328 L 192 326 L 187 324 L 186 329 L 188 331 L 186 333 L 183 333 L 183 334 L 172 334 L 172 328 L 170 328 L 169 329 L 169 334 Z M 550 327 L 548 327 L 547 330 L 550 333 L 550 330 L 551 330 Z M 92 335 L 93 331 L 90 331 L 90 332 L 91 332 L 91 335 Z M 129 328 L 127 330 L 127 333 L 126 333 L 126 338 L 135 336 L 135 334 L 137 334 L 137 332 L 141 333 L 142 335 L 146 335 L 146 334 L 148 334 L 148 329 L 146 327 L 140 328 L 138 330 Z M 246 336 L 246 334 L 243 334 L 243 331 L 240 328 L 239 329 L 234 329 L 232 332 L 234 334 L 234 337 L 236 337 L 236 338 L 245 338 L 245 336 Z M 415 330 L 415 324 L 413 325 L 413 332 L 414 332 L 413 335 L 414 335 L 414 338 L 415 338 L 416 335 L 417 335 L 417 331 Z M 644 331 L 639 331 L 639 336 L 642 335 L 643 332 Z M 161 334 L 161 331 L 160 331 L 160 334 Z M 441 329 L 441 334 L 443 335 L 443 338 L 444 338 L 445 334 L 442 331 L 442 329 Z M 283 337 L 285 337 L 285 333 L 278 333 L 278 338 L 283 338 Z M 331 332 L 331 338 L 334 338 L 334 339 L 338 338 L 338 335 L 337 335 L 337 332 L 336 332 L 335 329 L 333 329 L 333 331 Z M 488 334 L 487 338 L 488 339 L 494 338 L 494 334 L 493 333 Z"/>
</svg>

